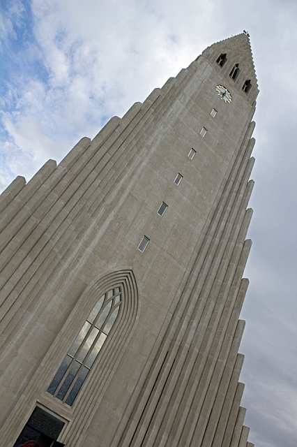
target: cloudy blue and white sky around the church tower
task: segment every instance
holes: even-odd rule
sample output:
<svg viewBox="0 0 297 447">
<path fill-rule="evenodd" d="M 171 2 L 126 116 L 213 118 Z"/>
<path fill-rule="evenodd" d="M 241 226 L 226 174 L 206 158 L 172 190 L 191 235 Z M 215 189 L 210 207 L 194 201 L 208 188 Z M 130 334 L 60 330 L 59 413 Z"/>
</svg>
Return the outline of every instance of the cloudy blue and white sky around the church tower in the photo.
<svg viewBox="0 0 297 447">
<path fill-rule="evenodd" d="M 241 318 L 245 425 L 296 447 L 295 0 L 0 0 L 0 189 L 61 161 L 212 43 L 250 33 L 260 94 Z"/>
</svg>

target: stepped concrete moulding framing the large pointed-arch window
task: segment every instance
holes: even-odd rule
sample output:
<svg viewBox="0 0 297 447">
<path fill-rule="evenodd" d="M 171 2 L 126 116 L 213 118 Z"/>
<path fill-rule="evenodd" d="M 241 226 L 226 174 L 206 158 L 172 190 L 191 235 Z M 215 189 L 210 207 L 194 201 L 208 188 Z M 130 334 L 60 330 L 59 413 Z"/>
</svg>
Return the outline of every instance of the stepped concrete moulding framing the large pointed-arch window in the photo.
<svg viewBox="0 0 297 447">
<path fill-rule="evenodd" d="M 119 315 L 114 322 L 106 342 L 102 345 L 98 358 L 96 358 L 96 361 L 84 381 L 82 388 L 79 390 L 72 406 L 75 411 L 81 411 L 82 407 L 84 408 L 85 399 L 88 399 L 88 409 L 86 410 L 84 408 L 84 411 L 90 413 L 90 417 L 93 407 L 98 405 L 98 402 L 102 399 L 102 390 L 112 379 L 112 375 L 116 370 L 116 365 L 119 364 L 125 351 L 125 346 L 127 346 L 132 337 L 132 333 L 137 323 L 139 301 L 137 283 L 132 270 L 111 272 L 100 279 L 95 279 L 90 286 L 86 288 L 79 300 L 77 300 L 75 308 L 70 313 L 65 325 L 56 337 L 52 348 L 45 358 L 45 363 L 49 366 L 47 374 L 43 376 L 45 386 L 47 383 L 47 390 L 52 383 L 52 379 L 56 374 L 57 369 L 61 365 L 61 362 L 63 362 L 63 358 L 65 358 L 66 353 L 68 353 L 70 344 L 72 344 L 77 337 L 77 333 L 79 332 L 77 328 L 82 328 L 84 321 L 90 314 L 90 310 L 96 305 L 96 302 L 98 302 L 102 293 L 116 287 L 121 287 L 122 293 Z M 82 312 L 82 309 L 85 309 L 84 312 Z M 84 318 L 82 316 L 83 313 L 85 315 Z M 71 340 L 71 342 L 69 342 L 69 340 Z M 61 402 L 56 400 L 50 393 L 45 393 L 45 397 L 51 397 L 56 402 Z M 70 406 L 68 406 L 68 408 L 70 408 Z M 83 427 L 82 430 L 84 430 Z"/>
</svg>

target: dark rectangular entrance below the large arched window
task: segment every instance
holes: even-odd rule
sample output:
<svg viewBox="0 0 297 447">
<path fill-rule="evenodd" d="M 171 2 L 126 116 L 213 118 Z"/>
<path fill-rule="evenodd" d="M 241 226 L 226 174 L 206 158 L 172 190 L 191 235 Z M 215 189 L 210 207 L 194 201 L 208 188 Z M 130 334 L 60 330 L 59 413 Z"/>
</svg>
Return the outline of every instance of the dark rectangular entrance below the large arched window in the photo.
<svg viewBox="0 0 297 447">
<path fill-rule="evenodd" d="M 64 423 L 36 406 L 13 447 L 62 447 L 56 441 Z"/>
</svg>

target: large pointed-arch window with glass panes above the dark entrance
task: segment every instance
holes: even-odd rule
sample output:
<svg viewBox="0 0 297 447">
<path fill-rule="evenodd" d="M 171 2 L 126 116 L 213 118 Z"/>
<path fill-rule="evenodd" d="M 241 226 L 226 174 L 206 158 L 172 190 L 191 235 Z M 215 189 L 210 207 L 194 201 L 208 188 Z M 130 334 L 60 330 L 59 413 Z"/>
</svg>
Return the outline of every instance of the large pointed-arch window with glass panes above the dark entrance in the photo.
<svg viewBox="0 0 297 447">
<path fill-rule="evenodd" d="M 64 358 L 47 392 L 72 405 L 112 329 L 121 305 L 121 288 L 102 295 Z"/>
</svg>

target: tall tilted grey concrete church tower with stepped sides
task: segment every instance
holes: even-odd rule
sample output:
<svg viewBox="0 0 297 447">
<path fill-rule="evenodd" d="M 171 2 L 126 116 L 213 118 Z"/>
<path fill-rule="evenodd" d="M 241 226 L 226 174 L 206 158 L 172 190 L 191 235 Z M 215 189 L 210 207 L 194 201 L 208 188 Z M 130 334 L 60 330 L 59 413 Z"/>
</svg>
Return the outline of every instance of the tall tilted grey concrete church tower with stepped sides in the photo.
<svg viewBox="0 0 297 447">
<path fill-rule="evenodd" d="M 1 195 L 7 447 L 251 447 L 248 34 Z M 31 443 L 31 444 L 30 444 Z"/>
</svg>

